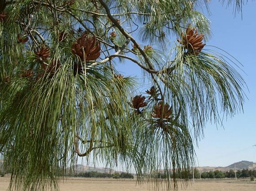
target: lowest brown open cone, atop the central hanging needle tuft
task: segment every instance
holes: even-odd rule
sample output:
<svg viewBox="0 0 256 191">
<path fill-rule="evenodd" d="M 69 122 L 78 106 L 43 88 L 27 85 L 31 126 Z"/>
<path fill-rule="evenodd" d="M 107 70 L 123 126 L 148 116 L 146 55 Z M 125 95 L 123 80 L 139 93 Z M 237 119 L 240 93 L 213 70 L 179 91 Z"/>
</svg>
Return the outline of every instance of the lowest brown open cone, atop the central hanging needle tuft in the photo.
<svg viewBox="0 0 256 191">
<path fill-rule="evenodd" d="M 160 101 L 154 106 L 152 117 L 168 120 L 170 115 L 172 115 L 172 107 L 169 109 L 169 104 L 163 105 L 163 102 Z"/>
</svg>

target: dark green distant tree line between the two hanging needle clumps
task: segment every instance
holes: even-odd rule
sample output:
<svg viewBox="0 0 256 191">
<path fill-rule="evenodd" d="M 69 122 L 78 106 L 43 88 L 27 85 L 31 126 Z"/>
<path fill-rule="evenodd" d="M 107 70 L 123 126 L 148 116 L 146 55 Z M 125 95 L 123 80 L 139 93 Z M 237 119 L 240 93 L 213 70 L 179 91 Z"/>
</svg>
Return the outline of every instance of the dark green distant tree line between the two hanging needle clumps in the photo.
<svg viewBox="0 0 256 191">
<path fill-rule="evenodd" d="M 107 172 L 97 172 L 97 171 L 90 171 L 90 172 L 80 172 L 78 174 L 74 175 L 75 177 L 86 177 L 86 178 L 130 178 L 133 179 L 134 176 L 130 173 L 125 172 L 115 172 L 113 174 L 107 173 Z"/>
</svg>

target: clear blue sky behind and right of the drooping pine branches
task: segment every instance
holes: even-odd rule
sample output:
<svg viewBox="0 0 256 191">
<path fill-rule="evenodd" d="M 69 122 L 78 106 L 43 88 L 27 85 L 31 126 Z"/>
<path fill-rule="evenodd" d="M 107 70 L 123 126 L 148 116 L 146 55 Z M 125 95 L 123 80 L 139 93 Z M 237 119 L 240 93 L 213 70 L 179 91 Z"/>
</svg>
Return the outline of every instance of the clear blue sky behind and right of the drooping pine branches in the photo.
<svg viewBox="0 0 256 191">
<path fill-rule="evenodd" d="M 195 148 L 198 166 L 228 166 L 241 160 L 256 162 L 256 2 L 249 1 L 236 16 L 232 7 L 226 9 L 217 0 L 209 3 L 212 38 L 207 45 L 219 47 L 234 56 L 241 67 L 249 91 L 244 89 L 248 99 L 244 113 L 223 121 L 223 127 L 208 124 L 204 139 Z M 140 69 L 132 63 L 119 67 L 124 75 L 137 74 Z M 139 80 L 139 79 L 138 79 Z M 140 80 L 139 80 L 140 81 Z"/>
</svg>

